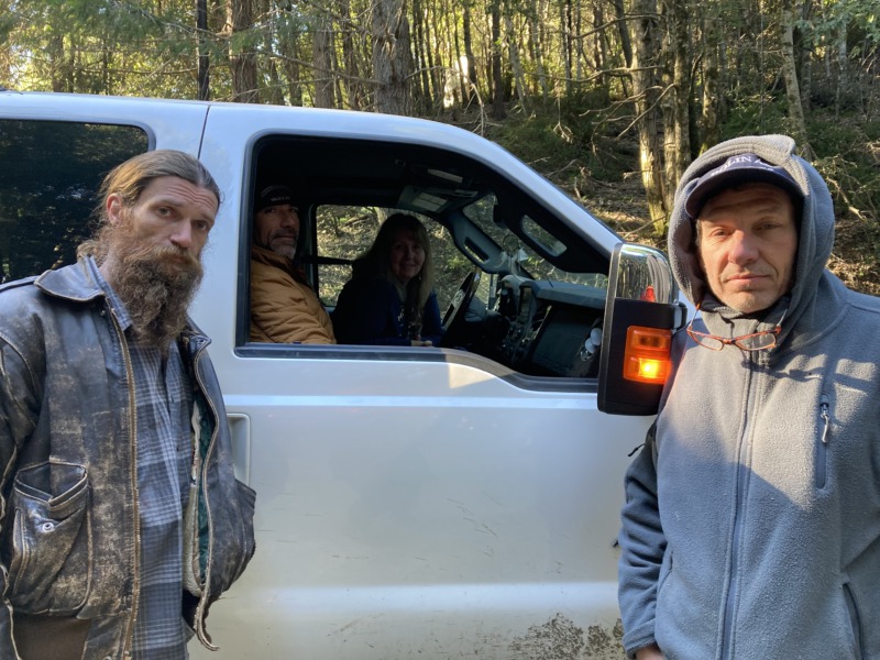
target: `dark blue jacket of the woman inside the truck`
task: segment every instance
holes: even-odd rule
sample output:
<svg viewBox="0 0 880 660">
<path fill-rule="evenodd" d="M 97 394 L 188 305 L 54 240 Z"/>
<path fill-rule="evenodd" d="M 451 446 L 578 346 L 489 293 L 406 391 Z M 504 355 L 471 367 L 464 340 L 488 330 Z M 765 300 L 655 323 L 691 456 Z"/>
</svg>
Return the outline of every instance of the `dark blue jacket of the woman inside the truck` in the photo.
<svg viewBox="0 0 880 660">
<path fill-rule="evenodd" d="M 443 327 L 437 294 L 431 292 L 421 318 L 421 339 L 440 345 Z M 392 283 L 382 277 L 350 279 L 333 310 L 333 332 L 339 343 L 410 345 L 404 305 Z"/>
</svg>

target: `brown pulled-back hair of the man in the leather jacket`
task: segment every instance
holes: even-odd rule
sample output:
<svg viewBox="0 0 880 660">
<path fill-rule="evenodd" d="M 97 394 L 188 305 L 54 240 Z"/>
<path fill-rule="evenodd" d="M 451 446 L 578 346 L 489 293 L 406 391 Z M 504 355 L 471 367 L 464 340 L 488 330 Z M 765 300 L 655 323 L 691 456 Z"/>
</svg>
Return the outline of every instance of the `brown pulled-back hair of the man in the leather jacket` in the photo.
<svg viewBox="0 0 880 660">
<path fill-rule="evenodd" d="M 110 195 L 119 195 L 122 198 L 123 206 L 131 208 L 138 202 L 144 188 L 153 179 L 163 176 L 175 176 L 189 182 L 194 186 L 209 190 L 217 198 L 218 207 L 222 201 L 222 195 L 217 182 L 195 156 L 169 148 L 160 148 L 139 154 L 117 165 L 105 177 L 101 187 L 98 189 L 100 201 L 95 208 L 95 217 L 98 221 L 96 235 L 79 245 L 77 256 L 92 254 L 98 262 L 103 261 L 107 256 L 102 232 L 110 227 L 110 221 L 107 217 L 107 198 Z"/>
</svg>

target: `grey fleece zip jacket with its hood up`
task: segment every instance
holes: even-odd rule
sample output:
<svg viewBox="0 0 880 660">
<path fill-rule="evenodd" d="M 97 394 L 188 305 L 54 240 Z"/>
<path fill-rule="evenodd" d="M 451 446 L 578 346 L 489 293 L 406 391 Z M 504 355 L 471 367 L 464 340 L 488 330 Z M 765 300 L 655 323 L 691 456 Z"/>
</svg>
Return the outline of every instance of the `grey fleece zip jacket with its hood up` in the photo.
<svg viewBox="0 0 880 660">
<path fill-rule="evenodd" d="M 696 178 L 752 152 L 804 194 L 795 283 L 760 318 L 715 300 L 684 200 Z M 711 351 L 685 332 L 661 413 L 626 475 L 619 562 L 624 646 L 674 660 L 880 659 L 880 299 L 826 263 L 832 199 L 785 136 L 697 158 L 676 191 L 669 252 L 695 328 L 772 329 L 776 348 Z M 787 311 L 788 310 L 788 311 Z"/>
</svg>

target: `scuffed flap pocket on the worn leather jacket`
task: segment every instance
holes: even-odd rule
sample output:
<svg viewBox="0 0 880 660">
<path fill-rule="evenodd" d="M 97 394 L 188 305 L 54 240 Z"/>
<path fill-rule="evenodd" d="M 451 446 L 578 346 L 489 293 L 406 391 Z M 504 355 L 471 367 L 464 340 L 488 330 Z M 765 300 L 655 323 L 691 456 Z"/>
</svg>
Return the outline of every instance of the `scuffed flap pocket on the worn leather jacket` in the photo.
<svg viewBox="0 0 880 660">
<path fill-rule="evenodd" d="M 47 462 L 20 470 L 4 530 L 7 596 L 29 614 L 75 614 L 92 575 L 88 473 L 82 465 Z"/>
</svg>

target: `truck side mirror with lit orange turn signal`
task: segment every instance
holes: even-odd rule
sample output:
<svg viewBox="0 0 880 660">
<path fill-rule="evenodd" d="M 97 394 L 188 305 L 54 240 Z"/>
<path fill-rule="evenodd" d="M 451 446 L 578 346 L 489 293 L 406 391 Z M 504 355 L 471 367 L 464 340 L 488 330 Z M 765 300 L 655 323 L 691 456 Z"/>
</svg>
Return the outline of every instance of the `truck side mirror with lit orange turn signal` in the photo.
<svg viewBox="0 0 880 660">
<path fill-rule="evenodd" d="M 612 255 L 598 369 L 598 409 L 654 415 L 671 370 L 672 334 L 686 308 L 666 255 L 618 243 Z"/>
</svg>

